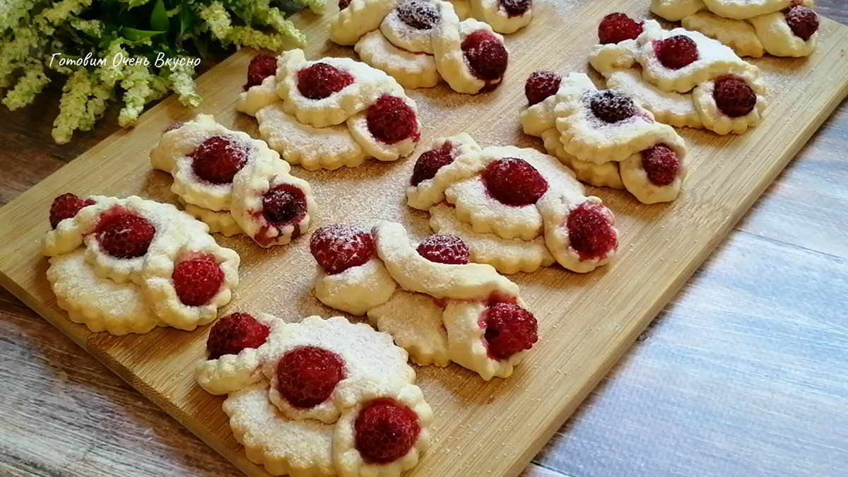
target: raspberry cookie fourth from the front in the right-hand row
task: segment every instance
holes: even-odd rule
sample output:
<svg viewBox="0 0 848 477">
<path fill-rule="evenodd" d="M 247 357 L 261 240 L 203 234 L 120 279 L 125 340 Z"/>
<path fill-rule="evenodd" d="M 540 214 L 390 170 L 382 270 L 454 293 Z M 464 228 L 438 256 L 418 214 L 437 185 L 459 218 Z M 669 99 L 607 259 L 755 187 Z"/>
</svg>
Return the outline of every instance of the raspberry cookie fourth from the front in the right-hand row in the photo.
<svg viewBox="0 0 848 477">
<path fill-rule="evenodd" d="M 625 188 L 645 204 L 677 198 L 685 176 L 683 138 L 630 95 L 599 91 L 583 74 L 537 72 L 527 80 L 527 100 L 524 132 L 542 137 L 578 180 Z"/>
</svg>

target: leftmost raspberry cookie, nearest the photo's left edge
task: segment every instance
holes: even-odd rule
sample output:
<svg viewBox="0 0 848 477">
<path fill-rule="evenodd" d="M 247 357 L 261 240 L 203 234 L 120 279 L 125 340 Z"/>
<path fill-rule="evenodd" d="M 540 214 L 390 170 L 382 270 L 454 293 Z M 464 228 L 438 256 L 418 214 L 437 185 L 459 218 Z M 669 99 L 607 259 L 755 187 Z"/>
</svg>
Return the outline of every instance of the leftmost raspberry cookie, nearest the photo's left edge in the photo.
<svg viewBox="0 0 848 477">
<path fill-rule="evenodd" d="M 191 330 L 214 320 L 238 285 L 237 253 L 173 205 L 64 194 L 50 223 L 43 253 L 56 302 L 95 332 Z"/>
</svg>

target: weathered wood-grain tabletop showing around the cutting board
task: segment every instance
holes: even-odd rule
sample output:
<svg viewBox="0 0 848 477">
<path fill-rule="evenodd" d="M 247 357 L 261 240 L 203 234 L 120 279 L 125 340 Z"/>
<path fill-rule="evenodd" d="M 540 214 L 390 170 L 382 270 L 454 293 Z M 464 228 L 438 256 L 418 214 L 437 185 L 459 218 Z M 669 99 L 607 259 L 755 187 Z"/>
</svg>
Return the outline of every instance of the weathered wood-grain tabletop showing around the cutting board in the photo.
<svg viewBox="0 0 848 477">
<path fill-rule="evenodd" d="M 844 312 L 834 303 L 848 272 L 846 122 L 843 112 L 830 123 L 841 127 L 820 133 L 806 149 L 811 159 L 790 167 L 739 225 L 744 232 L 714 255 L 616 378 L 540 454 L 547 469 L 530 474 L 836 475 L 845 468 L 848 393 L 840 365 L 848 346 L 838 319 Z M 9 143 L 18 137 L 21 147 L 35 149 L 14 125 Z M 44 177 L 55 160 L 44 146 L 3 157 L 4 172 L 24 171 L 3 174 L 3 194 Z M 20 302 L 0 295 L 0 304 L 8 317 L 0 356 L 12 362 L 0 371 L 0 386 L 8 386 L 0 388 L 8 396 L 0 470 L 234 472 Z"/>
</svg>

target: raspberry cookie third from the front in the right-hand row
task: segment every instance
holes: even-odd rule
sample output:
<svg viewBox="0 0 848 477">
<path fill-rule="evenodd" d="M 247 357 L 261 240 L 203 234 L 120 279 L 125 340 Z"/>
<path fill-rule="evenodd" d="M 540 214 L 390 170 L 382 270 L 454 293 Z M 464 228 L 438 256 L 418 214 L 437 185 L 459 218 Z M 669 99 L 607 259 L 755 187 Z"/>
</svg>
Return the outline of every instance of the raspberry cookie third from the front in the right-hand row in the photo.
<svg viewBox="0 0 848 477">
<path fill-rule="evenodd" d="M 534 272 L 555 261 L 590 272 L 616 252 L 612 213 L 584 195 L 571 170 L 534 149 L 480 149 L 466 134 L 437 139 L 416 161 L 406 197 L 430 212 L 434 231 L 460 237 L 471 261 L 499 272 Z M 569 229 L 569 211 L 587 202 L 596 205 L 594 227 Z"/>
</svg>

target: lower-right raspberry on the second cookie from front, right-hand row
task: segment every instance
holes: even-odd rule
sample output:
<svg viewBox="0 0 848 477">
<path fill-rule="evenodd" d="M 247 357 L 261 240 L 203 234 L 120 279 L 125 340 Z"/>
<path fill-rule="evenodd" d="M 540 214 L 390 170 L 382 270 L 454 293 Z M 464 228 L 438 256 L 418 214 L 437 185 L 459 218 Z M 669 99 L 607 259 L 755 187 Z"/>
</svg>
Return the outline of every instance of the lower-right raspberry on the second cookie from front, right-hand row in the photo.
<svg viewBox="0 0 848 477">
<path fill-rule="evenodd" d="M 530 311 L 512 303 L 495 303 L 483 311 L 481 324 L 488 356 L 503 360 L 529 350 L 538 341 L 536 318 Z"/>
</svg>

